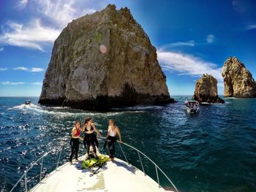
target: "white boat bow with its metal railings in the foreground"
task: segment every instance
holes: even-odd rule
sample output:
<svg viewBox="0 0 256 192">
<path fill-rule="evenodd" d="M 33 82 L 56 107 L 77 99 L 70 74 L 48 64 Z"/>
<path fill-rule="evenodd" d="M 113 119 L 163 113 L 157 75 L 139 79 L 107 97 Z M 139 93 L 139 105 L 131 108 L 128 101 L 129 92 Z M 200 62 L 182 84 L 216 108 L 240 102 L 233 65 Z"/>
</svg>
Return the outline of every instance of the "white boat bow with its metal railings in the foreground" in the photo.
<svg viewBox="0 0 256 192">
<path fill-rule="evenodd" d="M 103 137 L 100 137 L 101 141 Z M 99 140 L 100 141 L 100 140 Z M 176 186 L 173 185 L 172 181 L 167 177 L 167 175 L 162 171 L 162 169 L 157 166 L 147 155 L 142 153 L 140 150 L 127 145 L 126 143 L 118 142 L 118 146 L 121 149 L 121 153 L 124 156 L 124 161 L 119 158 L 114 158 L 114 161 L 105 161 L 104 166 L 99 167 L 98 169 L 95 167 L 91 167 L 89 169 L 81 169 L 83 167 L 83 162 L 88 159 L 87 155 L 83 155 L 78 158 L 78 161 L 69 164 L 65 163 L 62 166 L 59 166 L 59 161 L 61 158 L 61 150 L 56 153 L 58 162 L 51 162 L 55 164 L 55 170 L 50 172 L 45 178 L 42 178 L 42 170 L 43 170 L 43 159 L 52 153 L 52 151 L 45 153 L 39 158 L 37 161 L 33 162 L 31 166 L 26 169 L 23 176 L 20 177 L 20 180 L 14 185 L 11 192 L 17 190 L 16 186 L 18 183 L 24 182 L 24 191 L 111 191 L 111 192 L 119 192 L 119 191 L 178 191 Z M 133 166 L 130 162 L 127 161 L 126 153 L 124 153 L 121 145 L 125 147 L 129 147 L 129 153 L 136 154 L 138 153 L 138 162 L 140 162 L 140 169 L 138 167 Z M 103 153 L 99 153 L 102 155 Z M 108 157 L 108 155 L 105 155 Z M 59 158 L 58 158 L 59 157 Z M 67 157 L 66 157 L 67 158 Z M 151 162 L 151 168 L 155 171 L 155 176 L 157 176 L 157 180 L 153 180 L 146 174 L 146 161 Z M 41 166 L 41 172 L 39 174 L 39 183 L 32 188 L 28 188 L 27 182 L 28 172 L 33 167 L 39 165 Z M 169 186 L 163 188 L 159 180 L 159 176 L 164 176 L 168 181 Z M 34 177 L 35 178 L 35 177 Z M 156 178 L 155 178 L 156 179 Z M 31 185 L 30 185 L 31 186 Z"/>
</svg>

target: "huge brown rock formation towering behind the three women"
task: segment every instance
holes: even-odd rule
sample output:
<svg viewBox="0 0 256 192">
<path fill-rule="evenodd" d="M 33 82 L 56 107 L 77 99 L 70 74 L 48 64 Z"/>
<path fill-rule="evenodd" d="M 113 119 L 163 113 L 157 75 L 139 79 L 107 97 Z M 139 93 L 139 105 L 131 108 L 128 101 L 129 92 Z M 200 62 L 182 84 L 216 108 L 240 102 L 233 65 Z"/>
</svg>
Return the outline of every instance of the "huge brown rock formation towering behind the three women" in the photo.
<svg viewBox="0 0 256 192">
<path fill-rule="evenodd" d="M 129 9 L 73 20 L 54 42 L 40 104 L 101 109 L 173 101 L 156 48 Z"/>
</svg>

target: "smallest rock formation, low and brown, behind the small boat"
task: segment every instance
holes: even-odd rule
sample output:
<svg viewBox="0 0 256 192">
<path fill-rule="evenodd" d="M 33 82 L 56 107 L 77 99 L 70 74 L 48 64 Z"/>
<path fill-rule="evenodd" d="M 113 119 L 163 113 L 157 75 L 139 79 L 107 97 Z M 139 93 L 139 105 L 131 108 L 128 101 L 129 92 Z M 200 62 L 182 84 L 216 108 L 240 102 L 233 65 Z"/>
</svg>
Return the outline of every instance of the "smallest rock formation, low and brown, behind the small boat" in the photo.
<svg viewBox="0 0 256 192">
<path fill-rule="evenodd" d="M 208 103 L 224 102 L 218 96 L 217 80 L 210 74 L 203 74 L 203 76 L 195 83 L 194 99 Z"/>
</svg>

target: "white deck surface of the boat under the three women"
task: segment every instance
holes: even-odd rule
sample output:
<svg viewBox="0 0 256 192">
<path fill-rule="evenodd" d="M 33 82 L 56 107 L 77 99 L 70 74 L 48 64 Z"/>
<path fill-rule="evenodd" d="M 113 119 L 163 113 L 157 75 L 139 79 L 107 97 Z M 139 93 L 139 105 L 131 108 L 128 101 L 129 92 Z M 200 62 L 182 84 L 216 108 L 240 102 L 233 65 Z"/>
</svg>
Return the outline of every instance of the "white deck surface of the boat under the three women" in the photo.
<svg viewBox="0 0 256 192">
<path fill-rule="evenodd" d="M 79 158 L 80 160 L 85 157 Z M 57 171 L 51 172 L 48 177 L 37 184 L 31 191 L 165 191 L 159 185 L 126 162 L 115 158 L 108 161 L 99 169 L 97 174 L 89 176 L 96 167 L 78 169 L 81 163 L 74 162 L 60 166 Z"/>
</svg>

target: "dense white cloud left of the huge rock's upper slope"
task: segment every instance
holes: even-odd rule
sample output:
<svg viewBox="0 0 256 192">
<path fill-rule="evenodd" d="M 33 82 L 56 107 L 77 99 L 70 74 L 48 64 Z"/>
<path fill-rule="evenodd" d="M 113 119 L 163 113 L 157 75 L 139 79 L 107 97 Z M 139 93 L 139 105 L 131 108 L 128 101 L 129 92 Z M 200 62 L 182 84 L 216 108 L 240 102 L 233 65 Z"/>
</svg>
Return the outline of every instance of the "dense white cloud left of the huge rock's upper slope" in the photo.
<svg viewBox="0 0 256 192">
<path fill-rule="evenodd" d="M 8 22 L 7 31 L 0 35 L 1 45 L 13 45 L 43 50 L 45 43 L 53 43 L 60 31 L 42 26 L 39 19 L 31 21 L 27 26 L 20 23 Z"/>
</svg>

